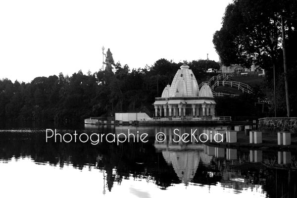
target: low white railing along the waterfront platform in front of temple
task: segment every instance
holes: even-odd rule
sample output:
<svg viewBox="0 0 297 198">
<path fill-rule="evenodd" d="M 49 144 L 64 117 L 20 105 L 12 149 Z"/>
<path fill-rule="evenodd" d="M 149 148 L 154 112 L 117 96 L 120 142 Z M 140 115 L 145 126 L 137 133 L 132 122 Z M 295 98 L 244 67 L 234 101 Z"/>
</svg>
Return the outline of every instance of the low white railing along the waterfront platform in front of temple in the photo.
<svg viewBox="0 0 297 198">
<path fill-rule="evenodd" d="M 153 117 L 153 118 L 139 118 L 140 121 L 231 121 L 231 116 L 219 116 L 219 117 Z"/>
</svg>

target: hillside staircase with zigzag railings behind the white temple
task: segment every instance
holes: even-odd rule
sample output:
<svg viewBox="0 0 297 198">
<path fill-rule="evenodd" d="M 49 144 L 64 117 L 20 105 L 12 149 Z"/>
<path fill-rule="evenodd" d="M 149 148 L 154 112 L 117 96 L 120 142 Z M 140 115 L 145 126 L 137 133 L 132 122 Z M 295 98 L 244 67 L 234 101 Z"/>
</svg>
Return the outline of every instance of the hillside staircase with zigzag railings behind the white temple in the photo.
<svg viewBox="0 0 297 198">
<path fill-rule="evenodd" d="M 207 83 L 207 85 L 210 87 L 213 96 L 222 97 L 222 96 L 239 96 L 238 94 L 225 94 L 225 93 L 216 93 L 214 89 L 218 86 L 230 86 L 238 88 L 238 90 L 241 90 L 243 93 L 251 94 L 252 89 L 249 85 L 237 81 L 229 81 L 229 78 L 232 76 L 240 75 L 240 72 L 234 72 L 234 73 L 221 73 L 217 76 L 211 77 L 208 81 L 202 82 L 198 85 L 198 88 L 201 89 L 202 85 L 204 83 Z"/>
</svg>

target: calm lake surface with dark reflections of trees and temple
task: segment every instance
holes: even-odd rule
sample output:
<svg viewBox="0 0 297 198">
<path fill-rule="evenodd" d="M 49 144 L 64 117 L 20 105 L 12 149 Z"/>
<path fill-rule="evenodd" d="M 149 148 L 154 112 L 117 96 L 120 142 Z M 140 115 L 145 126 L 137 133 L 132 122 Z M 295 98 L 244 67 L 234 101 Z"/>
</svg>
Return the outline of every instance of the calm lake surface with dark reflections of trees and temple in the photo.
<svg viewBox="0 0 297 198">
<path fill-rule="evenodd" d="M 119 145 L 112 136 L 96 145 L 46 142 L 43 127 L 0 130 L 0 197 L 297 197 L 297 152 L 170 141 L 176 128 L 199 134 L 202 127 L 77 127 L 84 138 L 128 129 L 136 137 L 148 134 L 147 143 Z M 74 130 L 57 133 L 73 137 Z M 158 132 L 166 134 L 163 143 L 155 140 Z"/>
</svg>

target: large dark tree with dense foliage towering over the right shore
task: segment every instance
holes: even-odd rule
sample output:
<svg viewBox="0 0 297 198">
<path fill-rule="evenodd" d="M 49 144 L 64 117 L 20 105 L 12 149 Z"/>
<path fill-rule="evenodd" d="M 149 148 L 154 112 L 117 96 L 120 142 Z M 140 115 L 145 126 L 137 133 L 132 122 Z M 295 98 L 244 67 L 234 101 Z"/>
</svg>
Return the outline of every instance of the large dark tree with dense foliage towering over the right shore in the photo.
<svg viewBox="0 0 297 198">
<path fill-rule="evenodd" d="M 225 65 L 255 63 L 265 69 L 265 94 L 271 103 L 273 65 L 276 70 L 277 115 L 285 116 L 286 99 L 283 67 L 282 23 L 285 26 L 291 116 L 297 111 L 297 1 L 234 0 L 226 7 L 222 28 L 213 35 L 213 44 Z M 270 109 L 274 111 L 274 108 Z"/>
</svg>

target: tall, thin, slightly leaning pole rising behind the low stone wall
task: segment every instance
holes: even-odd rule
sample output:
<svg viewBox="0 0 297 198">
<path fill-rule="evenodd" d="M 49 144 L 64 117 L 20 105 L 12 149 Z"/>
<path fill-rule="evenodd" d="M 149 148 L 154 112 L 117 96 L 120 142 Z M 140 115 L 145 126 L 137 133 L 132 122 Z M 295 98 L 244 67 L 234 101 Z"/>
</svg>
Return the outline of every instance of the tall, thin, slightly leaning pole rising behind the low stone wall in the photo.
<svg viewBox="0 0 297 198">
<path fill-rule="evenodd" d="M 284 74 L 285 74 L 285 91 L 286 91 L 286 102 L 287 102 L 287 116 L 290 117 L 290 101 L 289 101 L 289 84 L 288 84 L 288 73 L 287 73 L 287 57 L 286 57 L 286 38 L 285 38 L 285 27 L 283 16 L 282 19 L 282 40 L 283 40 L 283 56 L 284 56 Z"/>
</svg>

